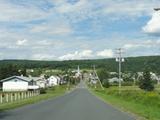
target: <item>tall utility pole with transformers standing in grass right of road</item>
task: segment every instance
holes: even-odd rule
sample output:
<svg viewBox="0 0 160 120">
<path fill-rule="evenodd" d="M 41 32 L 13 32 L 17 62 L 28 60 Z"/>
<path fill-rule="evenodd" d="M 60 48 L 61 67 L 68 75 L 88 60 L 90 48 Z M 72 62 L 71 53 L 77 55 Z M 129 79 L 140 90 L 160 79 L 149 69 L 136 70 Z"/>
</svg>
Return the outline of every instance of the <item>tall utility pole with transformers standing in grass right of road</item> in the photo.
<svg viewBox="0 0 160 120">
<path fill-rule="evenodd" d="M 118 73 L 119 73 L 119 80 L 118 80 L 118 82 L 119 82 L 119 93 L 120 93 L 120 90 L 121 90 L 121 80 L 122 80 L 122 62 L 124 62 L 124 58 L 122 58 L 122 48 L 118 48 L 118 49 L 116 49 L 117 50 L 117 52 L 116 52 L 116 54 L 117 54 L 117 57 L 116 57 L 116 62 L 118 62 L 119 63 L 119 67 L 118 67 Z"/>
</svg>

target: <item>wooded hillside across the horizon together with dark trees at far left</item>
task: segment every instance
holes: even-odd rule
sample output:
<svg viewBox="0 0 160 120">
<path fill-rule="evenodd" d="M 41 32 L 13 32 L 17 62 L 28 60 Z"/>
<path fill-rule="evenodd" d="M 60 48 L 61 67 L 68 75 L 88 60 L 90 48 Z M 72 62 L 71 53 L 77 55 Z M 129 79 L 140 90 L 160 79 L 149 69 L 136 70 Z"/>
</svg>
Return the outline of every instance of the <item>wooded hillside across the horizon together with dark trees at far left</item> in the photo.
<svg viewBox="0 0 160 120">
<path fill-rule="evenodd" d="M 12 75 L 19 75 L 25 69 L 59 69 L 66 71 L 75 69 L 80 65 L 81 69 L 92 69 L 96 65 L 97 69 L 107 69 L 109 72 L 118 71 L 118 63 L 114 58 L 111 59 L 95 59 L 95 60 L 68 60 L 68 61 L 35 61 L 35 60 L 1 60 L 0 61 L 0 79 Z M 125 58 L 122 63 L 122 72 L 140 72 L 145 66 L 149 66 L 152 72 L 160 74 L 160 56 L 144 56 Z M 21 71 L 19 71 L 21 70 Z"/>
</svg>

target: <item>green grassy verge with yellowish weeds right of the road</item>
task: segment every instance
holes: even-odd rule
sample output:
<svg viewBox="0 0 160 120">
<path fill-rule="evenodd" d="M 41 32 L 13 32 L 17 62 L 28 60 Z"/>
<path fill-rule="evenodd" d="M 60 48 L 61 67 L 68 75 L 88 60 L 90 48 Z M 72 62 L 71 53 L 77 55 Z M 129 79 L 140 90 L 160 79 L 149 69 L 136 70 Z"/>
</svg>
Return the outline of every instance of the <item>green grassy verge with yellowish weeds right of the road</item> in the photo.
<svg viewBox="0 0 160 120">
<path fill-rule="evenodd" d="M 142 116 L 147 120 L 160 120 L 160 94 L 157 91 L 144 92 L 134 90 L 133 87 L 124 87 L 121 94 L 117 87 L 111 87 L 104 91 L 92 89 L 92 91 L 107 103 L 118 108 Z"/>
</svg>

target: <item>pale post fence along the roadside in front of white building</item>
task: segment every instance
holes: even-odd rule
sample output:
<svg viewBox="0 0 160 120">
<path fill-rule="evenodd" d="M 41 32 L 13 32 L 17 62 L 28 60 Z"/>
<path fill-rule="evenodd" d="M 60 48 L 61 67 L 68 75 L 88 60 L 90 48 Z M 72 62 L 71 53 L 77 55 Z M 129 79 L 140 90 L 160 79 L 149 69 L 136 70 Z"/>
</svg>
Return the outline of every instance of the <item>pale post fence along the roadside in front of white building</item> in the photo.
<svg viewBox="0 0 160 120">
<path fill-rule="evenodd" d="M 25 92 L 0 92 L 0 104 L 27 99 L 33 96 L 37 96 L 39 94 L 39 90 Z"/>
</svg>

